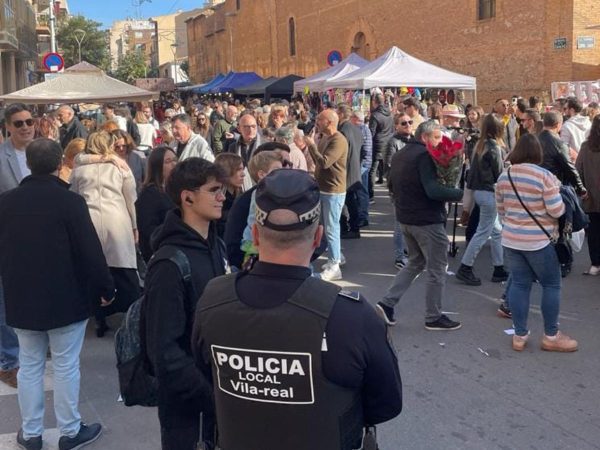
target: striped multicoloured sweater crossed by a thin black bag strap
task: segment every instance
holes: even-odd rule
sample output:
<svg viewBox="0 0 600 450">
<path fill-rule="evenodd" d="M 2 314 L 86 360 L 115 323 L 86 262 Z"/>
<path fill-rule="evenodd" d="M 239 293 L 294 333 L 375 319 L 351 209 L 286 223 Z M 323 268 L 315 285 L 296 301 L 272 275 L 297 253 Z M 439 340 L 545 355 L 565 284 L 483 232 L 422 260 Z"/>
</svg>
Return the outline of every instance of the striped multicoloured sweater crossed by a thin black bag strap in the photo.
<svg viewBox="0 0 600 450">
<path fill-rule="evenodd" d="M 516 164 L 510 174 L 521 199 L 552 236 L 558 237 L 558 218 L 565 212 L 560 182 L 548 170 L 535 164 Z M 540 250 L 548 237 L 519 202 L 506 172 L 496 184 L 496 205 L 503 222 L 502 245 L 515 250 Z"/>
</svg>

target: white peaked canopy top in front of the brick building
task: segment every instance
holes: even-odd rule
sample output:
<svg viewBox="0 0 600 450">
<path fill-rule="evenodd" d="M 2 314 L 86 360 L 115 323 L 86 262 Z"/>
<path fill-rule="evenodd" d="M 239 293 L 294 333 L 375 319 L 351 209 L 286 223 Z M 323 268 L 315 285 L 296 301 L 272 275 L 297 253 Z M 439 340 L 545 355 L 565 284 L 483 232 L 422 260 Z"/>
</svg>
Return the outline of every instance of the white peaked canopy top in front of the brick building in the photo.
<svg viewBox="0 0 600 450">
<path fill-rule="evenodd" d="M 455 88 L 476 90 L 474 77 L 442 69 L 415 58 L 398 47 L 366 66 L 343 77 L 329 79 L 323 89 L 371 89 L 374 87 L 412 86 L 423 88 Z"/>
</svg>

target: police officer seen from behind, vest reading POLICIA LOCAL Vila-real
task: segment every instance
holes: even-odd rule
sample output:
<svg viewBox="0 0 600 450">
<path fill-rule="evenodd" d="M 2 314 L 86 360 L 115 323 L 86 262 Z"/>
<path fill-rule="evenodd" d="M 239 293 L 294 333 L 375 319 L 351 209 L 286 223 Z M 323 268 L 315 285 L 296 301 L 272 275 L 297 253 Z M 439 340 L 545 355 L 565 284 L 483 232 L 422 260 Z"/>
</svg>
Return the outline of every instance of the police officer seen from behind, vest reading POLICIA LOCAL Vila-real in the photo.
<svg viewBox="0 0 600 450">
<path fill-rule="evenodd" d="M 213 279 L 192 347 L 214 385 L 223 450 L 350 450 L 363 429 L 402 409 L 386 327 L 358 293 L 311 277 L 319 188 L 280 169 L 256 190 L 249 272 Z"/>
</svg>

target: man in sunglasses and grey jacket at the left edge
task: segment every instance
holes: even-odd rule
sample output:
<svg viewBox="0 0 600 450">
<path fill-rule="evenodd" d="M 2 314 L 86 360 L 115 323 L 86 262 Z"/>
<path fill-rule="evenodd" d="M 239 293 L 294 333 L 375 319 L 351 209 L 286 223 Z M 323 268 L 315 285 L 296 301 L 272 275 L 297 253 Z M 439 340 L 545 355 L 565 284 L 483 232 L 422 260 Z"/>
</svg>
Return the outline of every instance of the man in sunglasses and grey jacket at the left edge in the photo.
<svg viewBox="0 0 600 450">
<path fill-rule="evenodd" d="M 25 147 L 35 133 L 31 112 L 22 103 L 14 103 L 5 112 L 6 130 L 10 136 L 0 145 L 0 194 L 16 188 L 30 174 L 25 159 Z M 0 278 L 0 381 L 17 387 L 19 342 L 12 328 L 6 325 L 4 293 Z"/>
</svg>

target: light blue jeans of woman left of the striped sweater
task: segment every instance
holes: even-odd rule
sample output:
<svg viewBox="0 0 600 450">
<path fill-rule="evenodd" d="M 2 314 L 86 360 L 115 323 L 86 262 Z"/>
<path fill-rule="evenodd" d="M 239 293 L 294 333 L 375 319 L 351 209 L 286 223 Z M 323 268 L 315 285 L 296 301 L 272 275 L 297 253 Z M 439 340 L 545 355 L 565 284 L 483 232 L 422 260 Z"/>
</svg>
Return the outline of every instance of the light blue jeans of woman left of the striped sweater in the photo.
<svg viewBox="0 0 600 450">
<path fill-rule="evenodd" d="M 473 197 L 475 203 L 479 206 L 479 225 L 477 226 L 475 235 L 469 241 L 461 262 L 466 266 L 472 267 L 481 248 L 491 236 L 492 264 L 494 266 L 502 266 L 504 264 L 501 243 L 502 224 L 498 217 L 494 193 L 489 191 L 474 191 Z"/>
</svg>

